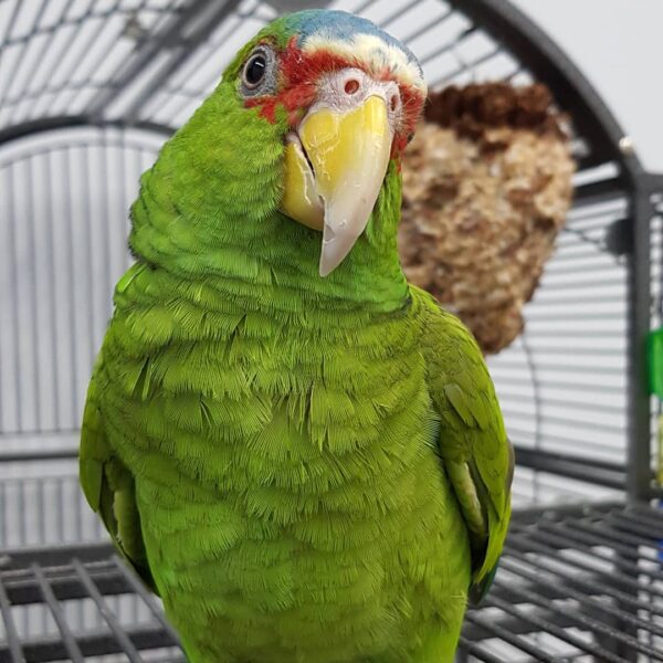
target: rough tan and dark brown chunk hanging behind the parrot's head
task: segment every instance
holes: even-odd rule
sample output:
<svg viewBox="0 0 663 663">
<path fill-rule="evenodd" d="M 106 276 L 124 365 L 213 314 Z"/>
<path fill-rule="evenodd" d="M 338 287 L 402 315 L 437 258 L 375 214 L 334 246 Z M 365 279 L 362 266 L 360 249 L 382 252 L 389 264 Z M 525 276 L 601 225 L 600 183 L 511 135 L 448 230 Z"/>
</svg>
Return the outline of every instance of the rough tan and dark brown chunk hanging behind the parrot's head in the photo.
<svg viewBox="0 0 663 663">
<path fill-rule="evenodd" d="M 523 330 L 571 203 L 564 117 L 541 85 L 433 93 L 403 155 L 403 270 L 472 330 L 484 352 Z"/>
</svg>

